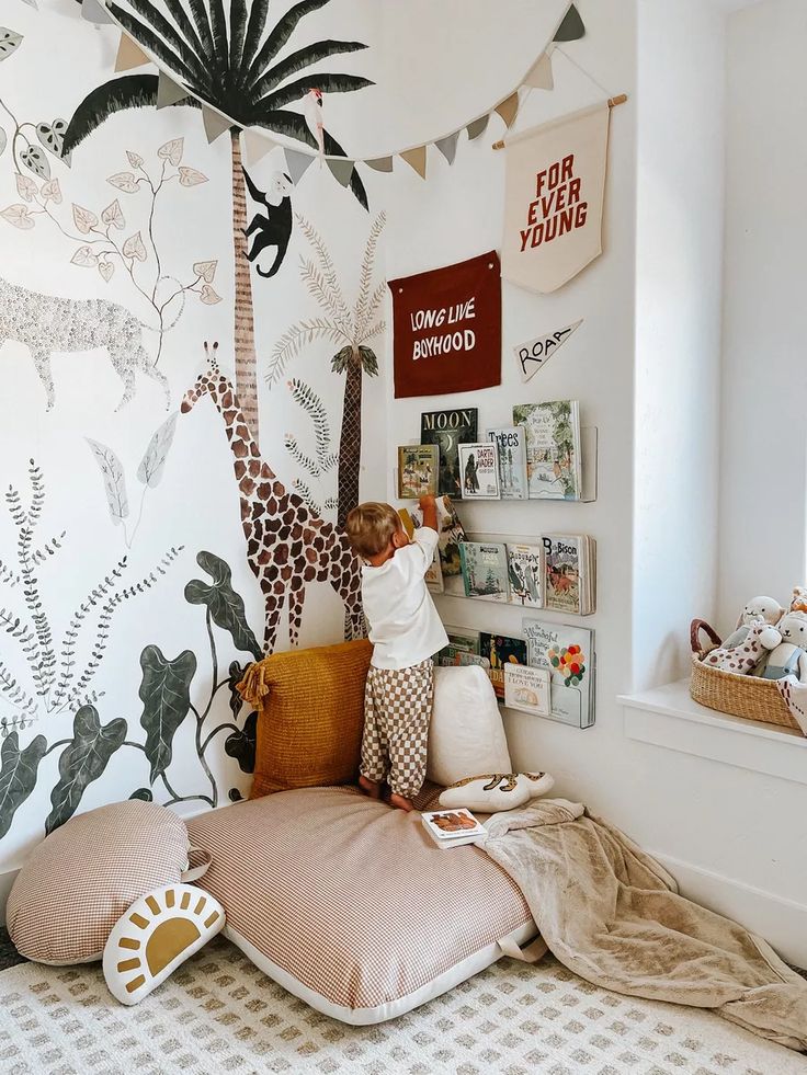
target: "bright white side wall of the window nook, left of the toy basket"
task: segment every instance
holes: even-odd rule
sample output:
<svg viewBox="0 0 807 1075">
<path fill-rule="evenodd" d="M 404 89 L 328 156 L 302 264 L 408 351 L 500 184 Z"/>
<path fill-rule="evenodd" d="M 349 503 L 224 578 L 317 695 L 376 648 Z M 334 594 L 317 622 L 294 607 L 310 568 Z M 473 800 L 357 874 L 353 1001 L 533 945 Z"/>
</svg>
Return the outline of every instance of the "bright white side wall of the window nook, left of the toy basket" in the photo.
<svg viewBox="0 0 807 1075">
<path fill-rule="evenodd" d="M 636 687 L 685 675 L 716 595 L 725 20 L 640 0 L 634 614 Z"/>
</svg>

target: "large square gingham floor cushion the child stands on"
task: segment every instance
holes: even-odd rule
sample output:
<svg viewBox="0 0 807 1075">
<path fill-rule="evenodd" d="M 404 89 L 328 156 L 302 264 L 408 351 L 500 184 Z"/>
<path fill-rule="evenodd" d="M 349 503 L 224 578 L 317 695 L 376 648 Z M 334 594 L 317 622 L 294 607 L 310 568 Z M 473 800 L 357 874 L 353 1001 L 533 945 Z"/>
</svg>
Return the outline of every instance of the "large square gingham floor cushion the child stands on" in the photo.
<svg viewBox="0 0 807 1075">
<path fill-rule="evenodd" d="M 353 789 L 285 791 L 194 817 L 189 830 L 213 855 L 200 884 L 223 903 L 227 935 L 345 1021 L 408 1010 L 428 999 L 407 1003 L 418 991 L 532 924 L 521 892 L 481 850 L 442 850 L 419 813 Z"/>
</svg>

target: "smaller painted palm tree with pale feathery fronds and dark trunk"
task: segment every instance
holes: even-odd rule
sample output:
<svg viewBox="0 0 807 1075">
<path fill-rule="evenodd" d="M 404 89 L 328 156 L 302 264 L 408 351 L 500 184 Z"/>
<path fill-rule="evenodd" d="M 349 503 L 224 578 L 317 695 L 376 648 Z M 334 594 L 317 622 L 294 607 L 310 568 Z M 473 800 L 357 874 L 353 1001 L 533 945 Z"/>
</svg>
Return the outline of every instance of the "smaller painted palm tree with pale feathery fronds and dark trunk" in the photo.
<svg viewBox="0 0 807 1075">
<path fill-rule="evenodd" d="M 274 385 L 283 376 L 291 359 L 314 340 L 323 339 L 341 344 L 331 358 L 331 369 L 337 374 L 344 374 L 342 430 L 339 436 L 338 526 L 344 526 L 348 513 L 359 503 L 363 376 L 366 374 L 375 377 L 378 373 L 378 359 L 367 343 L 380 335 L 386 328 L 385 321 L 378 317 L 387 289 L 386 281 L 382 281 L 373 289 L 376 249 L 385 221 L 386 216 L 380 213 L 370 229 L 359 274 L 359 295 L 355 305 L 350 309 L 321 236 L 297 214 L 297 222 L 315 255 L 314 259 L 300 259 L 300 277 L 325 316 L 292 325 L 275 344 L 266 371 L 266 381 Z"/>
</svg>

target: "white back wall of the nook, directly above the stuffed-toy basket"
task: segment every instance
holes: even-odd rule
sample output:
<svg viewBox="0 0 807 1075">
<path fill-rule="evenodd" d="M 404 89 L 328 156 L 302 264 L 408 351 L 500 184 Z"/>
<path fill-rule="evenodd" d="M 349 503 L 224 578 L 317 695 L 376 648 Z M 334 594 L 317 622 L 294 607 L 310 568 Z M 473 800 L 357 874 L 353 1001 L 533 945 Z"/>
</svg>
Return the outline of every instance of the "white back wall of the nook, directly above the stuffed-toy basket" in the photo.
<svg viewBox="0 0 807 1075">
<path fill-rule="evenodd" d="M 727 39 L 719 624 L 805 582 L 807 8 L 768 0 Z"/>
</svg>

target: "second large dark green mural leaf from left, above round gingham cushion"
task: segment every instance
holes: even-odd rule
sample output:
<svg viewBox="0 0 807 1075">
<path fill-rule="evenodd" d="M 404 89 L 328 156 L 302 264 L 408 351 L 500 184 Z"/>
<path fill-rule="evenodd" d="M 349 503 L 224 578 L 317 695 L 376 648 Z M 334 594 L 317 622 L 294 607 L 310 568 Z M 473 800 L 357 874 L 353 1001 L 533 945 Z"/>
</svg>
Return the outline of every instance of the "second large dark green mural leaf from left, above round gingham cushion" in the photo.
<svg viewBox="0 0 807 1075">
<path fill-rule="evenodd" d="M 59 758 L 59 782 L 50 792 L 45 832 L 52 833 L 76 813 L 88 785 L 98 780 L 126 739 L 126 721 L 118 717 L 101 725 L 94 706 L 82 706 L 72 723 L 72 742 Z"/>
</svg>

